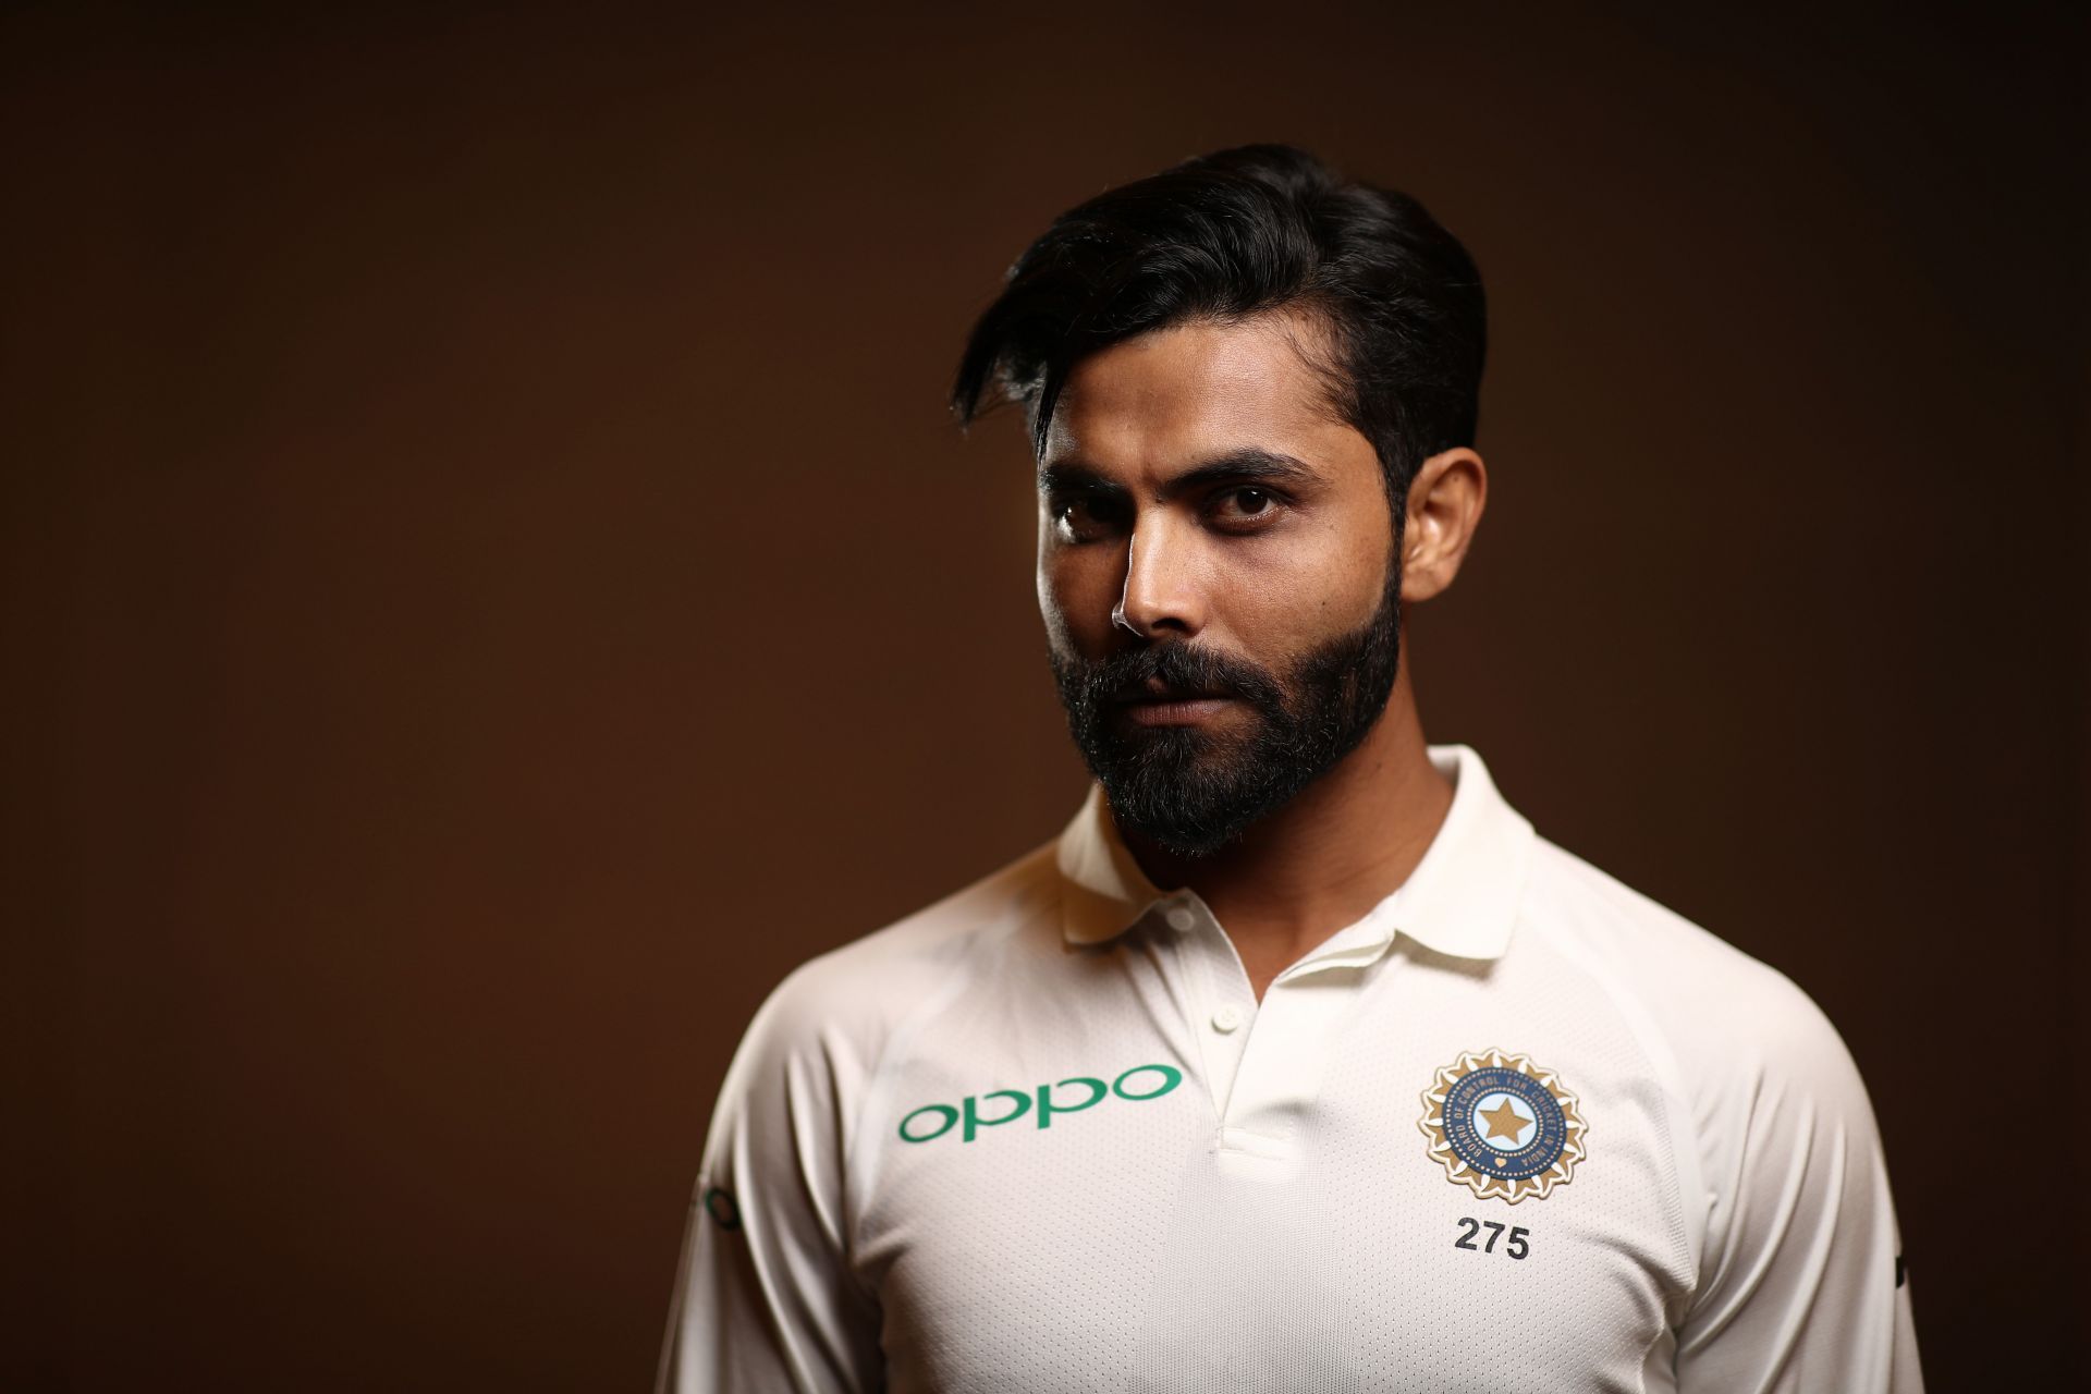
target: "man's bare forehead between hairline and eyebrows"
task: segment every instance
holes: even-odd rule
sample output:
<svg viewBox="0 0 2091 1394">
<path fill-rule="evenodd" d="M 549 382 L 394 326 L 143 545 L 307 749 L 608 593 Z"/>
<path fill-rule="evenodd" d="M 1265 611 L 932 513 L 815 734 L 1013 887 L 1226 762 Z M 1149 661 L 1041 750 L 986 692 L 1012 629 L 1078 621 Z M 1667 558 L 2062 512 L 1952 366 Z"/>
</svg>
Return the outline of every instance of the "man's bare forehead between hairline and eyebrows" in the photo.
<svg viewBox="0 0 2091 1394">
<path fill-rule="evenodd" d="M 1175 324 L 1083 357 L 1054 405 L 1039 464 L 1081 458 L 1115 472 L 1259 447 L 1326 472 L 1376 466 L 1301 357 L 1317 330 L 1294 316 Z"/>
</svg>

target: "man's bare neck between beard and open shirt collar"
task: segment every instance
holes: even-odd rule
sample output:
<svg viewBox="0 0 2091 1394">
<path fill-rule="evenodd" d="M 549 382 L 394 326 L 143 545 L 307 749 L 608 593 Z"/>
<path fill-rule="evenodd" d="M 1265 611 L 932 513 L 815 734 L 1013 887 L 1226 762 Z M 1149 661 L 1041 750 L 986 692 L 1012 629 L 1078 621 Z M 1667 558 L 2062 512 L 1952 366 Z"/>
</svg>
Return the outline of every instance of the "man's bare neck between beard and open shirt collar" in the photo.
<svg viewBox="0 0 2091 1394">
<path fill-rule="evenodd" d="M 1372 734 L 1215 857 L 1175 857 L 1138 834 L 1125 846 L 1156 886 L 1190 886 L 1248 970 L 1269 980 L 1401 888 L 1451 809 L 1451 782 L 1424 748 L 1407 654 Z"/>
</svg>

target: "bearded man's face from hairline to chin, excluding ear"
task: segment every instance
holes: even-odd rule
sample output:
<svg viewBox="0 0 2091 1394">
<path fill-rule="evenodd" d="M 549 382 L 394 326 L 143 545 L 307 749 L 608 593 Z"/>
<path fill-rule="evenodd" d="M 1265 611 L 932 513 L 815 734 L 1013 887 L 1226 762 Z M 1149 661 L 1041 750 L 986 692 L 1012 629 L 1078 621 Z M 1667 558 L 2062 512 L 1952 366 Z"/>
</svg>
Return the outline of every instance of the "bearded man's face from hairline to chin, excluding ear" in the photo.
<svg viewBox="0 0 2091 1394">
<path fill-rule="evenodd" d="M 1127 832 L 1207 857 L 1336 765 L 1399 665 L 1372 443 L 1263 316 L 1079 362 L 1039 460 L 1039 610 Z M 1156 700 L 1175 698 L 1175 700 Z"/>
</svg>

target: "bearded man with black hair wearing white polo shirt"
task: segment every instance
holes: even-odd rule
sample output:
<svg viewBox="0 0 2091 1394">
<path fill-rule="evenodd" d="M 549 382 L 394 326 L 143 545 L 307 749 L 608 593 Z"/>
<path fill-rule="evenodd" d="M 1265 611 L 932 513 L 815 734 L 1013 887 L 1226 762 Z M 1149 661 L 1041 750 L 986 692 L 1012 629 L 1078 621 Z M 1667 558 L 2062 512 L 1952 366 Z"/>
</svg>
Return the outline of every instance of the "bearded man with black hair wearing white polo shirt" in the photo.
<svg viewBox="0 0 2091 1394">
<path fill-rule="evenodd" d="M 663 1390 L 1920 1388 L 1832 1026 L 1424 744 L 1483 347 L 1466 251 L 1288 146 L 1016 261 L 953 403 L 1027 410 L 1096 782 L 757 1014 Z"/>
</svg>

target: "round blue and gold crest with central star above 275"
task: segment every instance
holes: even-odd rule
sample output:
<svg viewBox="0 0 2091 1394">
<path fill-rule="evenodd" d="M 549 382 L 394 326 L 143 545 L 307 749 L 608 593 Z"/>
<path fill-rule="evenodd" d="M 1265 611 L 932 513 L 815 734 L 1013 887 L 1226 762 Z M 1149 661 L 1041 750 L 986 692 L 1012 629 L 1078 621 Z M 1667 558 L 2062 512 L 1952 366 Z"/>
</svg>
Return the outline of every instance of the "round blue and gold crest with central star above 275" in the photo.
<svg viewBox="0 0 2091 1394">
<path fill-rule="evenodd" d="M 1472 1051 L 1424 1089 L 1418 1126 L 1449 1181 L 1514 1206 L 1568 1185 L 1589 1131 L 1575 1106 L 1560 1076 L 1531 1055 Z"/>
</svg>

